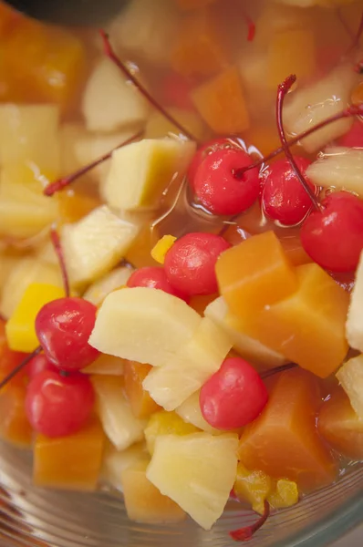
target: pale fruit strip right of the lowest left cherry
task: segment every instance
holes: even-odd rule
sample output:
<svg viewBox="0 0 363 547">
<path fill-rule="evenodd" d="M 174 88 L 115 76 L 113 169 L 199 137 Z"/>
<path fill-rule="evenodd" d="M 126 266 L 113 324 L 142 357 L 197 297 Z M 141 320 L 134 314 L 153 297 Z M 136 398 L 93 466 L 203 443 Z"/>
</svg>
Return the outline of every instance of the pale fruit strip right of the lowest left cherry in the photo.
<svg viewBox="0 0 363 547">
<path fill-rule="evenodd" d="M 143 438 L 144 424 L 132 414 L 119 377 L 94 376 L 97 407 L 103 430 L 118 450 L 128 449 Z"/>
</svg>

